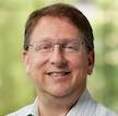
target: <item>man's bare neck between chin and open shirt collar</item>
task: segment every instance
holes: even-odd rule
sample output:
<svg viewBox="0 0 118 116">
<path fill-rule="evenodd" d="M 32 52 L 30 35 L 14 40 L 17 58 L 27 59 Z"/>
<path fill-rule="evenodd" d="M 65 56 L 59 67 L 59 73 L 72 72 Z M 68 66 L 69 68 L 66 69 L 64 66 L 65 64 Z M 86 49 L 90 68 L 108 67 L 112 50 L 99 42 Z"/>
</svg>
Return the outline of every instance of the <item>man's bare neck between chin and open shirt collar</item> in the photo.
<svg viewBox="0 0 118 116">
<path fill-rule="evenodd" d="M 62 97 L 39 94 L 38 104 L 40 116 L 66 116 L 70 108 L 76 103 L 83 91 Z"/>
</svg>

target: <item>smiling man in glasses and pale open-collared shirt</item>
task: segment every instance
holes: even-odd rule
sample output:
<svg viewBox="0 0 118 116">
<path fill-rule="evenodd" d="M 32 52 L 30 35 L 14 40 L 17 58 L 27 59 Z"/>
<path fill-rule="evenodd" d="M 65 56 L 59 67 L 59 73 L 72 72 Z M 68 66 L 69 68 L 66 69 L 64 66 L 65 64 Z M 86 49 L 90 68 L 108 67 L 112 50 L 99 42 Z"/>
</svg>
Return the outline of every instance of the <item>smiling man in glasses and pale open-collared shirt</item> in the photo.
<svg viewBox="0 0 118 116">
<path fill-rule="evenodd" d="M 37 98 L 8 116 L 117 116 L 87 92 L 94 37 L 79 10 L 63 3 L 36 10 L 26 22 L 24 37 L 23 59 Z"/>
</svg>

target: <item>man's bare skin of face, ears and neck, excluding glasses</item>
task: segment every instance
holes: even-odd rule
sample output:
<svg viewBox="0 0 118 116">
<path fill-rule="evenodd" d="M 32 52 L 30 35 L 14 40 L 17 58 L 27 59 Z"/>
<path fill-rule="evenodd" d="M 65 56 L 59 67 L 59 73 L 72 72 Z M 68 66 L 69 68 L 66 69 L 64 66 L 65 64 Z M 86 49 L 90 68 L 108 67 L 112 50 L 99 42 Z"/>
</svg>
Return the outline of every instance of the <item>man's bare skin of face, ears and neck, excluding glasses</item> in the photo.
<svg viewBox="0 0 118 116">
<path fill-rule="evenodd" d="M 44 16 L 34 27 L 31 43 L 44 38 L 54 43 L 63 38 L 82 39 L 82 33 L 66 18 Z M 62 54 L 58 45 L 46 56 L 37 56 L 30 48 L 23 53 L 23 59 L 37 90 L 40 116 L 66 116 L 86 88 L 87 74 L 94 67 L 94 54 L 84 46 L 74 55 Z M 63 74 L 64 71 L 70 73 Z"/>
</svg>

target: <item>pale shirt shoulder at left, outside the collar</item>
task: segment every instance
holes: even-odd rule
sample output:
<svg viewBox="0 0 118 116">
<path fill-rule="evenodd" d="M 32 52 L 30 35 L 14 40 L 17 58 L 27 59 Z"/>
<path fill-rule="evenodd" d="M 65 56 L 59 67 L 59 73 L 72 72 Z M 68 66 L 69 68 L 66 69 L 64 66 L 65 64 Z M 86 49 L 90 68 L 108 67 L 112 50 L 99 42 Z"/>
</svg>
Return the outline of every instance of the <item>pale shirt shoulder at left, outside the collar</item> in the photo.
<svg viewBox="0 0 118 116">
<path fill-rule="evenodd" d="M 32 107 L 33 107 L 33 104 L 24 106 L 14 113 L 8 114 L 7 116 L 27 116 L 27 114 L 32 113 Z"/>
</svg>

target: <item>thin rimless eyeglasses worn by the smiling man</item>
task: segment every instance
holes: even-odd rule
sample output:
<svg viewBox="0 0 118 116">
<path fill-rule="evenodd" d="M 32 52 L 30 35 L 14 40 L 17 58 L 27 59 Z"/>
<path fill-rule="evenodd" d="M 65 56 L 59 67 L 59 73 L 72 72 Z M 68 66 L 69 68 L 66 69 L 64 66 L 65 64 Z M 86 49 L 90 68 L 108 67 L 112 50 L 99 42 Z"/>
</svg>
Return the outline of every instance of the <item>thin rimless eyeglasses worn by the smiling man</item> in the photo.
<svg viewBox="0 0 118 116">
<path fill-rule="evenodd" d="M 28 46 L 33 47 L 34 53 L 39 55 L 47 55 L 55 49 L 55 46 L 59 46 L 62 53 L 76 54 L 80 51 L 84 42 L 82 39 L 61 39 L 58 43 L 52 43 L 52 40 L 39 40 L 31 43 Z"/>
</svg>

